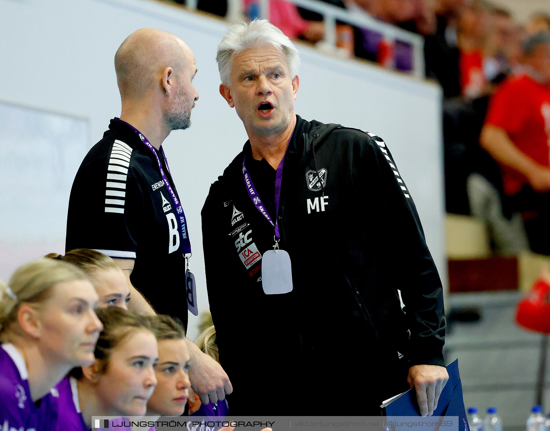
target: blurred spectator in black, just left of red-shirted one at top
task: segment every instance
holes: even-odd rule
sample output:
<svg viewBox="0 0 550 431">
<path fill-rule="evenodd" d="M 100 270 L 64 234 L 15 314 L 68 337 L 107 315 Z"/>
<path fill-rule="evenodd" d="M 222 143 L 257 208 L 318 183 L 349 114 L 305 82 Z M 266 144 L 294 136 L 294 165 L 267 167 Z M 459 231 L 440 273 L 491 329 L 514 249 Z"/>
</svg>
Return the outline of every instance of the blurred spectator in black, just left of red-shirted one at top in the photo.
<svg viewBox="0 0 550 431">
<path fill-rule="evenodd" d="M 439 82 L 446 98 L 460 94 L 456 26 L 465 5 L 466 0 L 436 0 L 435 31 L 425 38 L 426 77 Z"/>
</svg>

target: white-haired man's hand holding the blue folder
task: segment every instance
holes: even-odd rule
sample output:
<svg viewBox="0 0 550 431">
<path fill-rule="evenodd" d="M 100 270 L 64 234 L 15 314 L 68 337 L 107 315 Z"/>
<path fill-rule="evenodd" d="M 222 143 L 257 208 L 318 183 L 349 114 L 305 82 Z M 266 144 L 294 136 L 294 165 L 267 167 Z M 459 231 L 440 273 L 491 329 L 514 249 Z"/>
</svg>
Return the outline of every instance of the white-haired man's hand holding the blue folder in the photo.
<svg viewBox="0 0 550 431">
<path fill-rule="evenodd" d="M 407 383 L 416 390 L 420 416 L 432 416 L 439 395 L 449 380 L 447 368 L 439 365 L 413 365 L 409 368 Z"/>
</svg>

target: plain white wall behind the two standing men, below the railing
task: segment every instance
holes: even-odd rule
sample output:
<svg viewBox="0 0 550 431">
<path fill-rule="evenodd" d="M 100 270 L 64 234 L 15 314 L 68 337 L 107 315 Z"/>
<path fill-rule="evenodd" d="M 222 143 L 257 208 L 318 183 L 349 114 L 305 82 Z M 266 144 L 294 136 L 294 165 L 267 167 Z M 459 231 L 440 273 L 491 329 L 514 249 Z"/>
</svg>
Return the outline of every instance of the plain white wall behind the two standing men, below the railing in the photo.
<svg viewBox="0 0 550 431">
<path fill-rule="evenodd" d="M 141 27 L 181 37 L 197 60 L 194 82 L 200 99 L 193 126 L 172 133 L 164 148 L 185 203 L 193 245 L 191 267 L 199 305 L 206 309 L 200 210 L 210 184 L 246 141 L 240 120 L 218 94 L 216 46 L 226 24 L 148 0 L 0 0 L 0 99 L 88 119 L 91 146 L 109 119 L 120 114 L 114 53 Z M 384 138 L 415 199 L 446 286 L 439 88 L 359 61 L 329 58 L 306 46 L 299 49 L 296 113 Z M 0 187 L 0 205 L 4 204 Z M 64 223 L 63 211 L 59 217 Z M 56 251 L 61 252 L 59 247 Z M 0 251 L 0 259 L 12 253 Z M 190 316 L 191 337 L 196 323 Z"/>
</svg>

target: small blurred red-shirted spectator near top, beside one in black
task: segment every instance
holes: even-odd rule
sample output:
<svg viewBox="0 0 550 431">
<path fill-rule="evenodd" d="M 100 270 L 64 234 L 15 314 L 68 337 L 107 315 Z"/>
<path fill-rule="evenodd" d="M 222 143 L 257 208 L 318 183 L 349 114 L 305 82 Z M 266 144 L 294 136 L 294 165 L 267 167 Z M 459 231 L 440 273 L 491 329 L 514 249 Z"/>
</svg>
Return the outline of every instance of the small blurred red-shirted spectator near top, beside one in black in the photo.
<svg viewBox="0 0 550 431">
<path fill-rule="evenodd" d="M 489 4 L 483 0 L 472 0 L 460 16 L 460 88 L 462 94 L 470 99 L 480 96 L 488 82 L 483 60 L 492 18 Z"/>
</svg>

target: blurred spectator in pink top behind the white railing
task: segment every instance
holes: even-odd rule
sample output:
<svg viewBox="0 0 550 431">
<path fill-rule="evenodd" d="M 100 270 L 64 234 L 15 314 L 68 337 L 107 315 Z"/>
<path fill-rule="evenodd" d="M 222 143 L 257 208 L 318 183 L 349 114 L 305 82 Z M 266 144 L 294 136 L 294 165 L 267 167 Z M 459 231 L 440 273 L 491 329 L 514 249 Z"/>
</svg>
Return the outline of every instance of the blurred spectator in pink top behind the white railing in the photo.
<svg viewBox="0 0 550 431">
<path fill-rule="evenodd" d="M 244 8 L 250 19 L 259 17 L 258 0 L 244 0 Z M 303 36 L 309 42 L 318 42 L 324 38 L 324 24 L 302 18 L 293 3 L 271 0 L 269 16 L 271 23 L 292 40 Z"/>
</svg>

